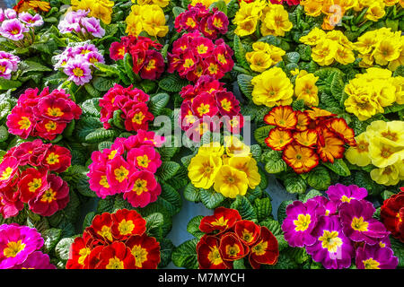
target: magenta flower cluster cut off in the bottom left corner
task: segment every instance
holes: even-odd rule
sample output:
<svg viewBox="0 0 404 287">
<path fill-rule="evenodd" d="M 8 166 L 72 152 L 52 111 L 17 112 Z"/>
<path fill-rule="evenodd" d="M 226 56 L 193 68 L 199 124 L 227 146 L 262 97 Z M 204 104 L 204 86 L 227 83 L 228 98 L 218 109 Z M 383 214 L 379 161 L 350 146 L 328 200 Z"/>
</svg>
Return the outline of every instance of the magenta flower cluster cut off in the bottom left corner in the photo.
<svg viewBox="0 0 404 287">
<path fill-rule="evenodd" d="M 56 269 L 48 254 L 40 251 L 43 244 L 34 228 L 16 223 L 0 225 L 0 269 Z"/>
</svg>

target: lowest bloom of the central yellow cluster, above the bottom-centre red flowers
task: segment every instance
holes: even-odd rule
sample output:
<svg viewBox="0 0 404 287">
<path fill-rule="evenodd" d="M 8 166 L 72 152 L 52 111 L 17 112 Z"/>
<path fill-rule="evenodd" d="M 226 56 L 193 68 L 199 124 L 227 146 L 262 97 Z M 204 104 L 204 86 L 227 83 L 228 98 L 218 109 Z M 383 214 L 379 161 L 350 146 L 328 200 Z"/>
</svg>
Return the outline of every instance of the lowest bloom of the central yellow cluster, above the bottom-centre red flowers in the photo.
<svg viewBox="0 0 404 287">
<path fill-rule="evenodd" d="M 216 173 L 214 188 L 225 197 L 235 198 L 247 193 L 248 182 L 245 172 L 224 165 Z"/>
</svg>

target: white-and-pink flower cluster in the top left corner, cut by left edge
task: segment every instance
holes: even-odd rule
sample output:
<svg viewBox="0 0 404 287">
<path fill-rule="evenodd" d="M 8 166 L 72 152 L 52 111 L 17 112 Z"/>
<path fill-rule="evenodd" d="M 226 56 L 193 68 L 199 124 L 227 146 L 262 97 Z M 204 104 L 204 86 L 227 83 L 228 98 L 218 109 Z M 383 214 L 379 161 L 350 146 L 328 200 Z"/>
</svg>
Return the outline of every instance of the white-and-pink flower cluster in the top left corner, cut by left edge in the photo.
<svg viewBox="0 0 404 287">
<path fill-rule="evenodd" d="M 30 30 L 43 25 L 40 14 L 22 12 L 17 15 L 13 9 L 0 9 L 0 22 L 0 35 L 13 41 L 24 39 Z"/>
</svg>

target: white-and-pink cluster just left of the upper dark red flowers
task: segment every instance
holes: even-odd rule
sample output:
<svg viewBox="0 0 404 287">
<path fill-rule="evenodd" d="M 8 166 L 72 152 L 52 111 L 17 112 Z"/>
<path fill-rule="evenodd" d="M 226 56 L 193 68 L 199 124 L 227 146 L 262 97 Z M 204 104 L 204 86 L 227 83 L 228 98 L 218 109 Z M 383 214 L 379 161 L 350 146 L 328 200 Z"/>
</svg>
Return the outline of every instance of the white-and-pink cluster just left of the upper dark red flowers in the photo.
<svg viewBox="0 0 404 287">
<path fill-rule="evenodd" d="M 63 68 L 63 72 L 68 75 L 67 80 L 75 82 L 76 85 L 83 85 L 92 80 L 92 69 L 97 68 L 94 63 L 105 63 L 98 48 L 86 42 L 67 47 L 55 59 L 57 60 L 55 70 Z"/>
</svg>

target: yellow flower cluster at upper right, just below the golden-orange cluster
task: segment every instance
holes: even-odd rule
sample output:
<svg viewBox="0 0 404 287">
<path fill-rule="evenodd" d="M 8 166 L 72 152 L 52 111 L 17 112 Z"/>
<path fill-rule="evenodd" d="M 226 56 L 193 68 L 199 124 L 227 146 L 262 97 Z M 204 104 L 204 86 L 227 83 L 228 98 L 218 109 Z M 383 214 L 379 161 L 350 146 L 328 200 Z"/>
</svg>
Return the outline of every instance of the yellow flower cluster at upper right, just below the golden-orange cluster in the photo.
<svg viewBox="0 0 404 287">
<path fill-rule="evenodd" d="M 334 61 L 347 65 L 355 61 L 354 44 L 340 30 L 326 33 L 315 27 L 300 41 L 313 46 L 312 59 L 319 65 L 331 65 Z"/>
</svg>

